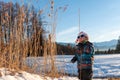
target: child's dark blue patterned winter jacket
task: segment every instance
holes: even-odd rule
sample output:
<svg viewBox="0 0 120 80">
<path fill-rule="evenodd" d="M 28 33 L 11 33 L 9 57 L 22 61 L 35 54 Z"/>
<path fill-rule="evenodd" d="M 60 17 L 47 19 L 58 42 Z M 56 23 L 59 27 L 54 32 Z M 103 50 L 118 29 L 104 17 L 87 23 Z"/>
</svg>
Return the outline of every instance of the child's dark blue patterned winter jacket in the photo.
<svg viewBox="0 0 120 80">
<path fill-rule="evenodd" d="M 78 69 L 91 69 L 94 58 L 94 47 L 91 42 L 79 43 L 77 45 L 77 53 L 71 59 L 74 63 L 77 61 Z"/>
</svg>

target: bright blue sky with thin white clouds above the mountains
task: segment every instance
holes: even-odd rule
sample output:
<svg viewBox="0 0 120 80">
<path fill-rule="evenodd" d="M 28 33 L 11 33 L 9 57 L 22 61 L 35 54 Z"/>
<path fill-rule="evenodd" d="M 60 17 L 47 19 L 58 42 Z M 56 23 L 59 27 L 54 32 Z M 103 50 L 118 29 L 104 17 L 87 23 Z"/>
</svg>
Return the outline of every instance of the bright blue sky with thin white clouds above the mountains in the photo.
<svg viewBox="0 0 120 80">
<path fill-rule="evenodd" d="M 38 8 L 46 8 L 49 5 L 49 0 L 25 1 L 29 1 L 29 4 L 34 4 Z M 88 33 L 91 42 L 109 41 L 118 39 L 120 36 L 120 0 L 54 1 L 55 9 L 68 5 L 66 11 L 59 10 L 57 12 L 57 42 L 75 42 L 79 32 L 79 9 L 80 31 Z"/>
</svg>

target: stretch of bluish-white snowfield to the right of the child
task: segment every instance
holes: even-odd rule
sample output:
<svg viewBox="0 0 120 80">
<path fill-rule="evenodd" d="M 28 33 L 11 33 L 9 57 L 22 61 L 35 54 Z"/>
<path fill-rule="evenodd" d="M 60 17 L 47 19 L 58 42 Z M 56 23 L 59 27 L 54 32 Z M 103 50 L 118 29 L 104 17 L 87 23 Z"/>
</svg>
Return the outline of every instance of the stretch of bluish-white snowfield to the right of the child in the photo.
<svg viewBox="0 0 120 80">
<path fill-rule="evenodd" d="M 94 77 L 120 77 L 120 54 L 95 56 L 93 70 Z"/>
</svg>

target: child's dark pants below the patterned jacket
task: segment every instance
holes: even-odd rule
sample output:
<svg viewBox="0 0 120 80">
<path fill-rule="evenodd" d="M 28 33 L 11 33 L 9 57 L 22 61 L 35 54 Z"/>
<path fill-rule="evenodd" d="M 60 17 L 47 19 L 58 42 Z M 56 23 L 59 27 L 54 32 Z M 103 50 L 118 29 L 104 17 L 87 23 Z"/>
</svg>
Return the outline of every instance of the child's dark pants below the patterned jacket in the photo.
<svg viewBox="0 0 120 80">
<path fill-rule="evenodd" d="M 80 80 L 92 80 L 93 71 L 92 69 L 78 70 L 78 78 Z"/>
</svg>

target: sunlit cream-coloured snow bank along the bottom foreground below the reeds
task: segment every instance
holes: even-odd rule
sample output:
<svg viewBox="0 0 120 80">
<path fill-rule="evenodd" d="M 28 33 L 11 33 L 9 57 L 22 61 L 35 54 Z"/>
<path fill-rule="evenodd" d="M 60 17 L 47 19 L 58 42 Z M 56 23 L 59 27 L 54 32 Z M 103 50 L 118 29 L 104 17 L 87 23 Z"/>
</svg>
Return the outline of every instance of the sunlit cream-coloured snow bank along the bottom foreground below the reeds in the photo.
<svg viewBox="0 0 120 80">
<path fill-rule="evenodd" d="M 0 80 L 78 80 L 77 77 L 63 76 L 60 78 L 43 77 L 35 74 L 30 74 L 24 71 L 12 73 L 8 69 L 0 69 Z M 93 79 L 93 80 L 107 80 L 107 79 Z"/>
</svg>

